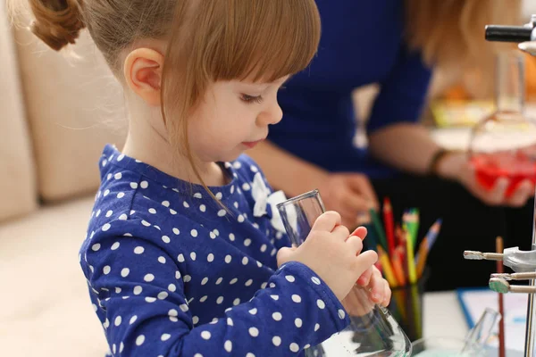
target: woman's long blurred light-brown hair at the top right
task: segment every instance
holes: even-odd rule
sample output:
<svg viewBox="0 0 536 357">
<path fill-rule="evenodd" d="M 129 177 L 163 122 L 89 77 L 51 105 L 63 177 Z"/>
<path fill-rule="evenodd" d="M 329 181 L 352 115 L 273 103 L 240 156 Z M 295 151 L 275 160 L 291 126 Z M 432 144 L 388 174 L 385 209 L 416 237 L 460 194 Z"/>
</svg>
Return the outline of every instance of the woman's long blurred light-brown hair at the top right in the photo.
<svg viewBox="0 0 536 357">
<path fill-rule="evenodd" d="M 489 24 L 522 23 L 521 0 L 406 0 L 406 41 L 429 65 L 463 74 L 492 90 L 495 54 L 507 45 L 487 42 Z"/>
</svg>

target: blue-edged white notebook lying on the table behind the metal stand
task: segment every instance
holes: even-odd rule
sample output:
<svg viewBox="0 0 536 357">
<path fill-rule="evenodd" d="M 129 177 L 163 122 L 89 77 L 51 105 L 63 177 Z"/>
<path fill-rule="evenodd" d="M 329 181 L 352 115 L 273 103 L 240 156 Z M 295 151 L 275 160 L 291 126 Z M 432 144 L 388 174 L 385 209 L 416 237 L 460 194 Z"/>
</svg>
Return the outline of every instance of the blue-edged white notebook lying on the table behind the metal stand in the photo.
<svg viewBox="0 0 536 357">
<path fill-rule="evenodd" d="M 456 290 L 458 302 L 464 311 L 468 328 L 473 328 L 486 308 L 498 311 L 498 294 L 489 287 L 462 288 Z M 507 349 L 523 351 L 527 313 L 526 294 L 505 294 L 505 340 Z M 498 331 L 490 340 L 490 345 L 498 345 Z"/>
</svg>

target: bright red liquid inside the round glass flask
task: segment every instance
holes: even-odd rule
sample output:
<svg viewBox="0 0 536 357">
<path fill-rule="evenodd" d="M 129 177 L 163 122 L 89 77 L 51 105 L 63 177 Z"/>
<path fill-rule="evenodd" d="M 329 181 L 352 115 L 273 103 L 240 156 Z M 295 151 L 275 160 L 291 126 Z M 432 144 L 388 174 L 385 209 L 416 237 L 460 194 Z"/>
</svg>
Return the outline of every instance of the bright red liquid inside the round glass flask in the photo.
<svg viewBox="0 0 536 357">
<path fill-rule="evenodd" d="M 536 161 L 533 157 L 517 152 L 477 154 L 471 158 L 476 179 L 486 189 L 491 189 L 498 178 L 507 178 L 510 185 L 506 195 L 512 195 L 519 183 L 530 179 L 536 184 Z"/>
</svg>

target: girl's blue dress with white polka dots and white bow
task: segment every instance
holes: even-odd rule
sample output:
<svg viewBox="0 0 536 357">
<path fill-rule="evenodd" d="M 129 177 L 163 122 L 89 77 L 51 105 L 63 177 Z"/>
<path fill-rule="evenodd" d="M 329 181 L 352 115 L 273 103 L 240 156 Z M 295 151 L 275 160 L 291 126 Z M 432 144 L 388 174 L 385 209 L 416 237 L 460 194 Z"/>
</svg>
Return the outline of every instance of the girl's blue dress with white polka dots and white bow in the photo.
<svg viewBox="0 0 536 357">
<path fill-rule="evenodd" d="M 111 145 L 99 165 L 80 264 L 113 356 L 297 356 L 348 326 L 312 270 L 277 268 L 289 239 L 246 155 L 211 187 L 228 210 Z"/>
</svg>

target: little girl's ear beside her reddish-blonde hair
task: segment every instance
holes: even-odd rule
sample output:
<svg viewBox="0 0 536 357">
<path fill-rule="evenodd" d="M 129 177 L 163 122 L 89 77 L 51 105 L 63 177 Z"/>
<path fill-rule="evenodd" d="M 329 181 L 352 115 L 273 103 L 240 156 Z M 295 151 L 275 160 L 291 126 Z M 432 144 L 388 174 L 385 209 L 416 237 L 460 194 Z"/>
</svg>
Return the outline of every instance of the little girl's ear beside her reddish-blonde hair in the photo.
<svg viewBox="0 0 536 357">
<path fill-rule="evenodd" d="M 149 48 L 130 52 L 123 65 L 125 82 L 151 106 L 160 106 L 163 55 Z"/>
</svg>

